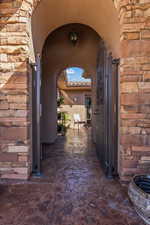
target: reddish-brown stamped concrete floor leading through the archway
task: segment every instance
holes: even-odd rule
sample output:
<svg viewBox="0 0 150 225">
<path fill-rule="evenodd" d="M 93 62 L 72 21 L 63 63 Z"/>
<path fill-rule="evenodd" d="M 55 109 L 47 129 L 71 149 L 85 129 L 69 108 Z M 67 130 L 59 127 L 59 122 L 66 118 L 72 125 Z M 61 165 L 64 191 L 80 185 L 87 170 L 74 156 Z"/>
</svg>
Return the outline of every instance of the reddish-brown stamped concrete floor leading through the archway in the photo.
<svg viewBox="0 0 150 225">
<path fill-rule="evenodd" d="M 44 177 L 1 182 L 0 225 L 143 225 L 118 181 L 107 180 L 90 134 L 45 147 Z"/>
</svg>

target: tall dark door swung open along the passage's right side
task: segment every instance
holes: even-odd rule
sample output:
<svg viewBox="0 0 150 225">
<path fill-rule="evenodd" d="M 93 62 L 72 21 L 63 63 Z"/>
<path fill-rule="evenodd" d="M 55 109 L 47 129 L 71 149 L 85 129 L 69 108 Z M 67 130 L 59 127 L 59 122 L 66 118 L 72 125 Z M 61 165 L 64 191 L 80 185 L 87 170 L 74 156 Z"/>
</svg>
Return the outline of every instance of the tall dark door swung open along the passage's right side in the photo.
<svg viewBox="0 0 150 225">
<path fill-rule="evenodd" d="M 118 63 L 114 62 L 102 42 L 97 67 L 96 150 L 109 178 L 117 174 L 118 167 Z"/>
</svg>

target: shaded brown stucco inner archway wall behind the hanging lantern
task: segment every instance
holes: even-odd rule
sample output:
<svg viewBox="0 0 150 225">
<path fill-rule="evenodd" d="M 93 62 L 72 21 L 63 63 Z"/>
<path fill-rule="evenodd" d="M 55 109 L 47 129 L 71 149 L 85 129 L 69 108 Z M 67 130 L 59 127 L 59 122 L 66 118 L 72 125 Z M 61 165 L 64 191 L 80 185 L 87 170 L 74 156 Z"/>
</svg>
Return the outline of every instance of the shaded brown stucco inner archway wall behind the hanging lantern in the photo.
<svg viewBox="0 0 150 225">
<path fill-rule="evenodd" d="M 79 43 L 68 40 L 71 30 L 79 33 Z M 56 80 L 62 70 L 78 66 L 89 74 L 96 74 L 100 36 L 89 26 L 68 24 L 53 31 L 42 52 L 42 141 L 54 142 L 57 136 Z M 53 106 L 53 107 L 52 107 Z"/>
</svg>

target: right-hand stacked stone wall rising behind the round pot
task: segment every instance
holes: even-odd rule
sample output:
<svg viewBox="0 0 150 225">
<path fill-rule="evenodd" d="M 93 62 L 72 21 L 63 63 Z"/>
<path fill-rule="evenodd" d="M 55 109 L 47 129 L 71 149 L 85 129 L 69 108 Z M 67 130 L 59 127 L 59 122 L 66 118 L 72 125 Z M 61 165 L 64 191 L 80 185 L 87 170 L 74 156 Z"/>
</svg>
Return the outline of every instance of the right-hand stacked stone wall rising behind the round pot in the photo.
<svg viewBox="0 0 150 225">
<path fill-rule="evenodd" d="M 121 24 L 120 177 L 150 172 L 150 0 L 118 1 Z"/>
</svg>

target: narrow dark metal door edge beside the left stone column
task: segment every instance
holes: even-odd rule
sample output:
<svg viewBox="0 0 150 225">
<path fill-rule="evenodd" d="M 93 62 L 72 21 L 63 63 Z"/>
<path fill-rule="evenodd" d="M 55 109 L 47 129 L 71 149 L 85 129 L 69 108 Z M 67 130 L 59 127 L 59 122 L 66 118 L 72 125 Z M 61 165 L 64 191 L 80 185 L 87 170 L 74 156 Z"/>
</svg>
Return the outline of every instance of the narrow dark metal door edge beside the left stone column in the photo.
<svg viewBox="0 0 150 225">
<path fill-rule="evenodd" d="M 41 142 L 40 142 L 40 117 L 41 117 L 41 62 L 37 56 L 36 64 L 32 67 L 32 171 L 39 175 L 41 172 Z"/>
</svg>

